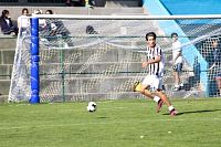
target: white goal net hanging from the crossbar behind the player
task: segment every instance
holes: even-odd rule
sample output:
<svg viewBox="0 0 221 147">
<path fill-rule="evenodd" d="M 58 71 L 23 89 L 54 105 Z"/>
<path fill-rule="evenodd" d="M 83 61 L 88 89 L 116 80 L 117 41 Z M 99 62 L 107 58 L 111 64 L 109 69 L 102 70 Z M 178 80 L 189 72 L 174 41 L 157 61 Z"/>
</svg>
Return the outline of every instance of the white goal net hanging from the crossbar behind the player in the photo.
<svg viewBox="0 0 221 147">
<path fill-rule="evenodd" d="M 39 18 L 39 46 L 32 27 L 20 29 L 11 76 L 9 101 L 29 101 L 39 94 L 41 102 L 141 98 L 133 92 L 147 69 L 147 32 L 156 32 L 166 57 L 165 92 L 171 97 L 219 96 L 213 41 L 220 48 L 219 15 L 34 15 Z M 22 18 L 31 22 L 33 18 Z M 21 19 L 21 20 L 22 20 Z M 183 87 L 173 91 L 170 34 L 181 42 Z M 31 45 L 30 45 L 31 44 Z M 38 64 L 32 50 L 38 48 Z M 219 54 L 219 52 L 217 52 Z M 39 65 L 39 91 L 31 88 L 32 67 Z M 38 85 L 38 84 L 36 84 Z"/>
</svg>

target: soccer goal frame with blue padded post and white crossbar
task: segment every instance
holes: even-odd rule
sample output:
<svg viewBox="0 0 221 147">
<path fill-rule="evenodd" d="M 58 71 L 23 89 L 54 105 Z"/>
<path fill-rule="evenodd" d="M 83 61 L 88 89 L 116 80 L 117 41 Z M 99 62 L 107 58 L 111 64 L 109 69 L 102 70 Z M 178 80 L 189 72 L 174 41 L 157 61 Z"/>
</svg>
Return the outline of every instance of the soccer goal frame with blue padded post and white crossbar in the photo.
<svg viewBox="0 0 221 147">
<path fill-rule="evenodd" d="M 194 14 L 194 15 L 71 15 L 71 14 L 33 14 L 31 19 L 31 97 L 30 103 L 40 103 L 40 76 L 39 76 L 39 19 L 74 19 L 74 20 L 183 20 L 183 19 L 221 19 L 221 14 Z M 165 24 L 160 24 L 165 25 Z M 201 71 L 207 71 L 207 64 L 202 63 Z M 206 73 L 201 73 L 206 77 Z M 208 93 L 208 86 L 206 93 Z M 207 94 L 206 94 L 207 95 Z"/>
</svg>

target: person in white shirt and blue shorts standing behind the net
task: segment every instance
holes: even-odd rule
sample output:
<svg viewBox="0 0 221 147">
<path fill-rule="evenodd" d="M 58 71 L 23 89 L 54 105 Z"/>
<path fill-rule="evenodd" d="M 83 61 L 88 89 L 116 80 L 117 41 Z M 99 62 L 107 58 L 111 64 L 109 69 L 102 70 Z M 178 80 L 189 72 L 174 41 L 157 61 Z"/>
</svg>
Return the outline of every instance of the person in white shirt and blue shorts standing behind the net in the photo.
<svg viewBox="0 0 221 147">
<path fill-rule="evenodd" d="M 172 39 L 172 64 L 173 64 L 173 77 L 175 77 L 175 91 L 179 91 L 183 87 L 183 83 L 180 80 L 182 71 L 182 51 L 181 44 L 178 41 L 178 34 L 171 33 Z"/>
</svg>

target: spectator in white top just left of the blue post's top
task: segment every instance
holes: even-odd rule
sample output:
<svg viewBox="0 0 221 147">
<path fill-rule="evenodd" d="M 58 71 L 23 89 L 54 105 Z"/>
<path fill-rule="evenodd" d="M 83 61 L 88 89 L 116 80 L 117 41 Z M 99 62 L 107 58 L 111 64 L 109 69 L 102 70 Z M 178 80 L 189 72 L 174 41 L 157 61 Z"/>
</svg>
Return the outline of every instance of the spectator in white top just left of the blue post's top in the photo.
<svg viewBox="0 0 221 147">
<path fill-rule="evenodd" d="M 25 32 L 30 27 L 30 19 L 25 18 L 29 15 L 29 10 L 27 8 L 22 9 L 21 17 L 18 18 L 18 28 L 21 30 L 21 32 Z"/>
</svg>

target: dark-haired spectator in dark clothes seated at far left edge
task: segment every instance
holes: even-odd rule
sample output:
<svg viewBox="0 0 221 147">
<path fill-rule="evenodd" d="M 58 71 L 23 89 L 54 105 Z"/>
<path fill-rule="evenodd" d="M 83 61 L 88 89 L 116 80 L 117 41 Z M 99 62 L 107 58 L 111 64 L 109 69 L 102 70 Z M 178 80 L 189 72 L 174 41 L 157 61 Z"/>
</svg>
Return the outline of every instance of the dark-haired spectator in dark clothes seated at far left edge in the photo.
<svg viewBox="0 0 221 147">
<path fill-rule="evenodd" d="M 13 25 L 8 10 L 2 11 L 2 14 L 0 17 L 0 25 L 3 34 L 18 34 L 18 29 Z"/>
</svg>

